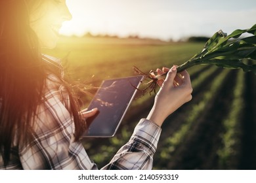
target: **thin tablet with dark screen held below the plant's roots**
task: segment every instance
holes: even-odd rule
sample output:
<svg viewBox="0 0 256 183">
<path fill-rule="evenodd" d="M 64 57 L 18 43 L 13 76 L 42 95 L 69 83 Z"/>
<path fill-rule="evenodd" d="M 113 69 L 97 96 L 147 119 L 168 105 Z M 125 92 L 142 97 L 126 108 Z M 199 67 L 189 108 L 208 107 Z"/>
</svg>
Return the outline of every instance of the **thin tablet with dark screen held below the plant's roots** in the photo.
<svg viewBox="0 0 256 183">
<path fill-rule="evenodd" d="M 88 107 L 88 110 L 98 108 L 98 113 L 87 118 L 89 128 L 83 137 L 114 137 L 142 78 L 131 76 L 102 81 Z"/>
</svg>

